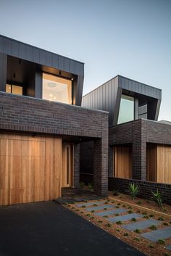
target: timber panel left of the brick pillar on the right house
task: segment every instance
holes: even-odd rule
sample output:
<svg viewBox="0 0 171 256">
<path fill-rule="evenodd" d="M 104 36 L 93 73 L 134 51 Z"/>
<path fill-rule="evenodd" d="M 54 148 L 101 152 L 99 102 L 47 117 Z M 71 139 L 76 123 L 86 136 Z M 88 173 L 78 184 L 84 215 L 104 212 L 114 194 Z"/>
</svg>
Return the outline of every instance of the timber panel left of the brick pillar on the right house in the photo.
<svg viewBox="0 0 171 256">
<path fill-rule="evenodd" d="M 114 177 L 132 178 L 133 160 L 130 146 L 114 146 Z"/>
</svg>

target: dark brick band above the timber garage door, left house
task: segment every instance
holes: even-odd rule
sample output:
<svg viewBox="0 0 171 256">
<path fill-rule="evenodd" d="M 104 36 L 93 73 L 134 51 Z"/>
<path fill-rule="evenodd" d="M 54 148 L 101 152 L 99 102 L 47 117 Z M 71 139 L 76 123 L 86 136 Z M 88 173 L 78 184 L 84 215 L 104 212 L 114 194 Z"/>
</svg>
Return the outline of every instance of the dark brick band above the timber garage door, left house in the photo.
<svg viewBox="0 0 171 256">
<path fill-rule="evenodd" d="M 101 138 L 107 112 L 0 92 L 0 129 Z M 106 120 L 105 120 L 106 122 Z"/>
</svg>

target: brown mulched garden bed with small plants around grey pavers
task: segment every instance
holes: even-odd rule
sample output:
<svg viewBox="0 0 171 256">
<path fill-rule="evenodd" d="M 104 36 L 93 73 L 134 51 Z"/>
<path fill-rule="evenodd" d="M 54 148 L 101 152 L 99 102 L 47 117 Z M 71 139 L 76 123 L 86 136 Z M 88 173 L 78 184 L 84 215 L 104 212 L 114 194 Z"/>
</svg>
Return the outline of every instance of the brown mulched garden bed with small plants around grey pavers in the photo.
<svg viewBox="0 0 171 256">
<path fill-rule="evenodd" d="M 136 205 L 136 202 L 138 201 L 141 201 L 141 205 Z M 133 201 L 132 199 L 130 199 L 128 195 L 124 195 L 124 194 L 120 194 L 119 196 L 113 196 L 112 192 L 110 192 L 109 197 L 107 199 L 98 200 L 98 205 L 97 205 L 97 200 L 88 201 L 88 203 L 92 202 L 91 206 L 95 207 L 95 210 L 90 210 L 90 208 L 86 206 L 87 202 L 83 202 L 82 207 L 78 206 L 78 202 L 75 204 L 65 205 L 65 207 L 69 208 L 70 210 L 82 216 L 83 218 L 86 218 L 86 220 L 90 221 L 96 226 L 99 226 L 100 228 L 109 232 L 113 236 L 116 236 L 118 239 L 121 239 L 122 241 L 125 241 L 126 243 L 132 245 L 133 247 L 135 247 L 136 249 L 138 249 L 139 251 L 143 252 L 146 255 L 149 255 L 149 256 L 170 255 L 170 251 L 168 249 L 165 249 L 165 247 L 171 244 L 171 238 L 160 239 L 161 244 L 159 244 L 157 242 L 149 241 L 149 239 L 145 239 L 143 238 L 143 236 L 141 236 L 142 233 L 155 230 L 156 228 L 157 230 L 160 230 L 165 227 L 171 227 L 170 206 L 164 205 L 164 207 L 166 207 L 167 210 L 165 212 L 162 212 L 162 210 L 159 209 L 159 207 L 157 207 L 154 202 L 144 202 L 144 201 L 146 200 L 135 199 L 135 201 Z M 133 204 L 133 205 L 130 205 L 130 204 Z M 99 205 L 102 205 L 102 207 L 104 208 L 100 209 L 101 207 L 99 207 Z M 110 208 L 107 208 L 109 206 Z M 144 210 L 143 207 L 147 208 L 147 210 Z M 131 220 L 126 220 L 123 223 L 120 221 L 117 221 L 117 223 L 114 223 L 109 220 L 109 216 L 107 215 L 104 215 L 104 216 L 96 215 L 96 214 L 99 214 L 100 212 L 104 212 L 105 210 L 106 212 L 109 212 L 110 209 L 118 210 L 121 208 L 127 211 L 126 213 L 127 215 L 135 213 L 135 214 L 143 215 L 143 217 L 139 218 L 138 220 L 136 220 L 135 218 L 132 218 Z M 151 210 L 153 211 L 152 213 L 151 213 Z M 111 215 L 111 217 L 116 217 L 116 216 L 119 217 L 122 215 L 125 215 L 125 213 L 120 212 L 120 214 Z M 159 225 L 143 228 L 142 230 L 140 229 L 139 231 L 137 231 L 137 233 L 135 230 L 129 231 L 123 228 L 123 224 L 125 226 L 131 223 L 138 223 L 138 221 L 141 221 L 141 220 L 159 221 Z"/>
</svg>

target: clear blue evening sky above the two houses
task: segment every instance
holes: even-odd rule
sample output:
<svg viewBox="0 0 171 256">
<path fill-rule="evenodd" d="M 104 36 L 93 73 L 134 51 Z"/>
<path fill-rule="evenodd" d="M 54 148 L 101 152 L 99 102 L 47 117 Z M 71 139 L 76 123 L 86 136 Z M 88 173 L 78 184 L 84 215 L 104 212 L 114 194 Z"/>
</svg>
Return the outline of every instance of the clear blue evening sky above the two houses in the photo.
<svg viewBox="0 0 171 256">
<path fill-rule="evenodd" d="M 84 62 L 83 94 L 118 74 L 161 88 L 171 121 L 171 0 L 0 0 L 0 34 Z"/>
</svg>

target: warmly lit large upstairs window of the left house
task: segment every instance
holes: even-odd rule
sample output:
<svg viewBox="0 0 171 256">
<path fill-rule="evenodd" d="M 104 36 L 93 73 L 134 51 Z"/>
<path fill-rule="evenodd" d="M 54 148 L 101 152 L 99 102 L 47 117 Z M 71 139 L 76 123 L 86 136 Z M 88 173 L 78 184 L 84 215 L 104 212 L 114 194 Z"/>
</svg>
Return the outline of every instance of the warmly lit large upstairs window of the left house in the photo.
<svg viewBox="0 0 171 256">
<path fill-rule="evenodd" d="M 43 73 L 43 99 L 72 104 L 72 81 Z"/>
</svg>

